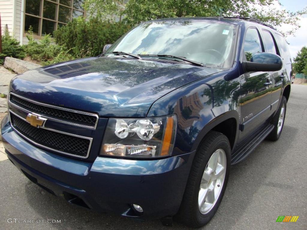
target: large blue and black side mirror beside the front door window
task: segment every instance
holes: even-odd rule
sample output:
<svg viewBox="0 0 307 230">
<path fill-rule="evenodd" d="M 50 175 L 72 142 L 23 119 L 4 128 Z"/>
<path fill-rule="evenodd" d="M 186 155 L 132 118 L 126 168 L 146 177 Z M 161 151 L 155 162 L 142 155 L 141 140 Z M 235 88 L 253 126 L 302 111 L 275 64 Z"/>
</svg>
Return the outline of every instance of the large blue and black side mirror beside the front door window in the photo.
<svg viewBox="0 0 307 230">
<path fill-rule="evenodd" d="M 279 71 L 282 69 L 282 59 L 273 53 L 256 53 L 251 57 L 251 61 L 244 61 L 245 72 L 267 72 Z"/>
</svg>

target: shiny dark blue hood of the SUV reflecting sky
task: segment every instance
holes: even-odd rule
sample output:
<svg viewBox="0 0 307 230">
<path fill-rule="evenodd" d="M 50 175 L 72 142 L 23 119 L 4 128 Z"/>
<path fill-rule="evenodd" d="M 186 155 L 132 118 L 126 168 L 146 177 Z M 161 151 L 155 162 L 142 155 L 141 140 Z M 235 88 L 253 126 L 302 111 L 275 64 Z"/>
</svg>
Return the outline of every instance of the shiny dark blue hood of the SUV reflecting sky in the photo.
<svg viewBox="0 0 307 230">
<path fill-rule="evenodd" d="M 93 57 L 27 71 L 13 79 L 11 90 L 100 116 L 145 117 L 158 98 L 219 71 L 175 61 Z"/>
</svg>

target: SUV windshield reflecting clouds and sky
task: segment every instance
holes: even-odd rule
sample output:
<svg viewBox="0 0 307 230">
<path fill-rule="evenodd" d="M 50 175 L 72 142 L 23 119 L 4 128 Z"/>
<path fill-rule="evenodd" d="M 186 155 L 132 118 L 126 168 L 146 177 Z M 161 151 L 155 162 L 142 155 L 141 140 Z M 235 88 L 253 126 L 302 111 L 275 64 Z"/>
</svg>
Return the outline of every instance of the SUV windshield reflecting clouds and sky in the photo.
<svg viewBox="0 0 307 230">
<path fill-rule="evenodd" d="M 229 68 L 235 28 L 232 24 L 209 21 L 146 22 L 122 36 L 107 52 L 126 52 L 142 58 L 172 55 L 208 67 Z"/>
</svg>

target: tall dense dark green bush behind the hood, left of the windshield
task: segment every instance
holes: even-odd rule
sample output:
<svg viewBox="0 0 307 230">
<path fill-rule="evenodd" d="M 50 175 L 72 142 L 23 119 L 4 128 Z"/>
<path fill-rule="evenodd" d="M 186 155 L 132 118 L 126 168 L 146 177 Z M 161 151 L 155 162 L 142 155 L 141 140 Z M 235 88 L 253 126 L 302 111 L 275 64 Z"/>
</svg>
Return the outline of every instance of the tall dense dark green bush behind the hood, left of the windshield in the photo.
<svg viewBox="0 0 307 230">
<path fill-rule="evenodd" d="M 85 21 L 79 17 L 68 25 L 53 32 L 57 44 L 65 46 L 76 57 L 97 56 L 102 53 L 105 44 L 114 43 L 130 26 L 121 22 L 111 23 L 91 18 Z"/>
</svg>

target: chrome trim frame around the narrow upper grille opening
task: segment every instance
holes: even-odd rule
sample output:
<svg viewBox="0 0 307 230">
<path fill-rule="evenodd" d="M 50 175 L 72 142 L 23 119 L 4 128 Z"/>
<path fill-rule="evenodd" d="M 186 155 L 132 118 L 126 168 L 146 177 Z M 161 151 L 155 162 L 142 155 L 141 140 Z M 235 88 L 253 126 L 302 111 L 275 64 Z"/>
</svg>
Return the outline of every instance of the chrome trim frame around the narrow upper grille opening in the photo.
<svg viewBox="0 0 307 230">
<path fill-rule="evenodd" d="M 79 127 L 83 127 L 83 128 L 96 129 L 96 127 L 97 127 L 99 116 L 97 114 L 95 114 L 95 113 L 87 113 L 87 112 L 83 112 L 83 111 L 79 111 L 79 110 L 62 108 L 62 107 L 59 107 L 59 106 L 56 106 L 56 105 L 49 105 L 49 104 L 33 101 L 31 99 L 28 99 L 28 98 L 25 98 L 25 97 L 22 97 L 20 95 L 17 95 L 15 93 L 10 92 L 9 97 L 8 97 L 9 98 L 8 101 L 9 101 L 10 105 L 14 105 L 17 108 L 19 108 L 19 109 L 21 109 L 21 110 L 23 110 L 23 111 L 25 111 L 27 113 L 37 113 L 37 112 L 29 111 L 27 109 L 24 109 L 24 108 L 16 105 L 14 102 L 11 102 L 11 100 L 10 100 L 11 94 L 16 96 L 17 98 L 24 99 L 24 100 L 26 100 L 28 102 L 32 102 L 32 103 L 37 104 L 37 105 L 42 105 L 42 106 L 46 106 L 46 107 L 54 108 L 54 109 L 60 109 L 60 110 L 64 110 L 64 111 L 68 111 L 68 112 L 72 112 L 72 113 L 81 113 L 81 114 L 84 114 L 84 115 L 93 116 L 93 117 L 96 117 L 96 122 L 95 122 L 94 126 L 90 126 L 90 125 L 80 125 L 80 124 L 76 124 L 76 123 L 73 123 L 73 122 L 64 121 L 64 120 L 61 120 L 61 119 L 57 119 L 57 118 L 53 118 L 53 117 L 49 117 L 49 116 L 45 116 L 45 115 L 40 114 L 41 117 L 45 117 L 45 118 L 48 118 L 48 119 L 53 120 L 53 121 L 57 121 L 57 122 L 61 122 L 61 123 L 64 123 L 64 124 L 69 124 L 69 125 L 75 125 L 75 126 L 79 126 Z M 39 113 L 37 113 L 37 114 L 39 114 Z"/>
</svg>

